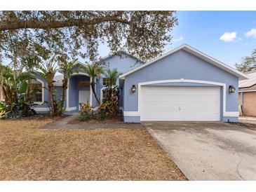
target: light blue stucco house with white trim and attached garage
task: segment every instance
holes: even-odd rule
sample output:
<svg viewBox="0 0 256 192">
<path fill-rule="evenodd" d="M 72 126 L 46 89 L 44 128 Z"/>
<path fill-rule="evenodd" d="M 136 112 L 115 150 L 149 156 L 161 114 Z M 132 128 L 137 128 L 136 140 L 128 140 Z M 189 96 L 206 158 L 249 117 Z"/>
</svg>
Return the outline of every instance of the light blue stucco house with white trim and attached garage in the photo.
<svg viewBox="0 0 256 192">
<path fill-rule="evenodd" d="M 121 56 L 120 56 L 121 55 Z M 90 78 L 74 64 L 69 79 L 66 113 L 79 111 L 79 103 L 96 106 L 90 90 Z M 140 121 L 238 121 L 238 78 L 245 74 L 187 45 L 170 50 L 161 57 L 142 62 L 127 53 L 105 57 L 105 64 L 121 73 L 120 109 L 126 122 Z M 35 74 L 37 83 L 46 81 Z M 104 98 L 105 78 L 96 79 L 96 92 Z M 55 76 L 55 90 L 60 97 L 62 76 Z M 40 96 L 41 94 L 41 96 Z M 48 101 L 42 89 L 39 104 Z M 48 111 L 48 104 L 36 107 Z"/>
</svg>

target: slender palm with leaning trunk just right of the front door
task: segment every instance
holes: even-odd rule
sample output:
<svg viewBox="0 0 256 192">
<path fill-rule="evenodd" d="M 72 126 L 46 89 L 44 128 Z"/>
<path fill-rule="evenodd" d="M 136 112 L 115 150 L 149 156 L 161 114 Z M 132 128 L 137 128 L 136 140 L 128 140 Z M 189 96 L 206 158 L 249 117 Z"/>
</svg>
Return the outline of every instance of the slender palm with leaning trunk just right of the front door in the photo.
<svg viewBox="0 0 256 192">
<path fill-rule="evenodd" d="M 97 101 L 97 104 L 100 104 L 100 100 L 97 98 L 95 92 L 95 78 L 99 77 L 103 73 L 104 68 L 99 64 L 87 64 L 86 66 L 81 67 L 81 69 L 90 76 L 90 87 L 93 91 L 93 95 Z"/>
</svg>

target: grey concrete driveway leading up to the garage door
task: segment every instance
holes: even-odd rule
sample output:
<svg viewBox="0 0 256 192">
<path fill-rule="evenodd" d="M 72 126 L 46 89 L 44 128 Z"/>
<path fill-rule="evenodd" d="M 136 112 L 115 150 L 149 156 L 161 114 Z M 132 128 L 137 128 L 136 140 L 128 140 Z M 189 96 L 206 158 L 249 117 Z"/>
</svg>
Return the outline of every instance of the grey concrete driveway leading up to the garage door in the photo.
<svg viewBox="0 0 256 192">
<path fill-rule="evenodd" d="M 189 180 L 256 180 L 256 131 L 229 123 L 143 123 Z"/>
</svg>

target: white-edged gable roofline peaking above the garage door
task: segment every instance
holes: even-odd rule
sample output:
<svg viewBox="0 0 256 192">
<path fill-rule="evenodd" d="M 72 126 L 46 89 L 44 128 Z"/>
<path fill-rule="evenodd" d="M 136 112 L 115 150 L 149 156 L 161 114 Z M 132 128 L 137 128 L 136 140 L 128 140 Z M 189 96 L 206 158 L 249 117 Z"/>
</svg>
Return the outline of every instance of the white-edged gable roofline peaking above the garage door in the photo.
<svg viewBox="0 0 256 192">
<path fill-rule="evenodd" d="M 206 55 L 205 53 L 202 53 L 199 50 L 196 50 L 195 48 L 192 48 L 191 46 L 188 46 L 187 44 L 183 44 L 182 46 L 179 46 L 173 50 L 168 51 L 167 53 L 161 55 L 160 57 L 156 57 L 155 59 L 146 62 L 145 64 L 140 65 L 139 67 L 136 67 L 135 69 L 132 69 L 124 74 L 121 74 L 119 78 L 124 78 L 125 76 L 128 76 L 129 74 L 132 74 L 133 72 L 140 70 L 144 67 L 147 67 L 149 64 L 152 64 L 158 60 L 163 59 L 164 57 L 167 57 L 168 55 L 171 55 L 173 53 L 176 53 L 178 50 L 186 50 L 188 53 L 191 53 L 192 55 L 195 55 L 196 57 L 201 58 L 202 60 L 205 60 L 206 62 L 209 62 L 210 64 L 215 65 L 216 67 L 219 67 L 220 69 L 229 72 L 230 74 L 233 74 L 234 76 L 246 79 L 248 76 L 241 73 L 240 71 L 237 71 L 236 69 L 233 69 L 232 67 L 229 67 L 229 65 L 224 64 L 223 62 L 220 62 L 218 60 L 215 60 L 213 57 L 210 57 Z"/>
</svg>

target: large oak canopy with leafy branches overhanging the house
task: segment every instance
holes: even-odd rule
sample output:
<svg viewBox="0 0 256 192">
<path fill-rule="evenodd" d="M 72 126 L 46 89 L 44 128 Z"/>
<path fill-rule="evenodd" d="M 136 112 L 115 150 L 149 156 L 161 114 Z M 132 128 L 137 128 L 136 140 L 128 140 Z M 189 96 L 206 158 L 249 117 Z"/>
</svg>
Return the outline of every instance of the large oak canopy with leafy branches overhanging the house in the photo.
<svg viewBox="0 0 256 192">
<path fill-rule="evenodd" d="M 173 11 L 0 11 L 0 45 L 15 65 L 34 48 L 95 60 L 100 42 L 149 60 L 162 53 L 175 25 Z"/>
</svg>

